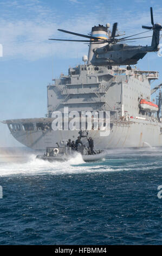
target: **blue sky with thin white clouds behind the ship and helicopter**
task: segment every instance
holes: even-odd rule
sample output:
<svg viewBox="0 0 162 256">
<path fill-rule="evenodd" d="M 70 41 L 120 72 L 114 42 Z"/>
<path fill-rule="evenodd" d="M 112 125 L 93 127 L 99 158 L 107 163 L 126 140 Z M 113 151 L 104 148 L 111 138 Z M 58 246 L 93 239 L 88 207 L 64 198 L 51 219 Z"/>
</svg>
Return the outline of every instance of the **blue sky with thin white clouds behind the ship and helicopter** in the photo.
<svg viewBox="0 0 162 256">
<path fill-rule="evenodd" d="M 125 31 L 126 35 L 140 33 L 144 31 L 141 25 L 151 25 L 151 6 L 154 22 L 162 23 L 160 0 L 1 0 L 0 120 L 44 117 L 47 84 L 52 76 L 66 74 L 69 66 L 82 63 L 87 45 L 47 40 L 77 39 L 57 28 L 87 34 L 99 23 L 118 22 L 119 31 Z M 133 44 L 149 45 L 151 39 Z M 161 60 L 156 53 L 149 53 L 139 61 L 138 67 L 158 70 L 162 74 Z M 159 83 L 160 80 L 153 86 Z M 0 147 L 17 145 L 21 144 L 12 138 L 8 127 L 0 124 Z"/>
</svg>

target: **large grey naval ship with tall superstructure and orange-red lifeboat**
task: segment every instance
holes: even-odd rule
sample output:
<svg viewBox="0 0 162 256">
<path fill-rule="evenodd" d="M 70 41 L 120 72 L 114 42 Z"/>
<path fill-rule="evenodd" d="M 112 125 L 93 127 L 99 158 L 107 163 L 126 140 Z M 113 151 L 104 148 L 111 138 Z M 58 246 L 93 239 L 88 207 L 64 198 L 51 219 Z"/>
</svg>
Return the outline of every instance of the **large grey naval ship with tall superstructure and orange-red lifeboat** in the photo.
<svg viewBox="0 0 162 256">
<path fill-rule="evenodd" d="M 92 35 L 106 36 L 107 27 L 92 28 Z M 100 44 L 97 45 L 100 47 Z M 103 44 L 101 45 L 103 46 Z M 88 57 L 83 65 L 69 68 L 68 75 L 60 75 L 47 86 L 47 117 L 5 120 L 11 135 L 25 146 L 45 150 L 55 147 L 61 140 L 76 139 L 78 131 L 54 131 L 51 123 L 54 111 L 109 111 L 110 133 L 100 136 L 99 130 L 89 130 L 95 147 L 130 148 L 162 145 L 161 92 L 160 87 L 151 89 L 158 80 L 158 71 L 139 70 L 133 66 L 94 66 L 91 64 L 93 48 L 89 44 Z M 151 95 L 159 89 L 159 96 L 151 102 Z"/>
</svg>

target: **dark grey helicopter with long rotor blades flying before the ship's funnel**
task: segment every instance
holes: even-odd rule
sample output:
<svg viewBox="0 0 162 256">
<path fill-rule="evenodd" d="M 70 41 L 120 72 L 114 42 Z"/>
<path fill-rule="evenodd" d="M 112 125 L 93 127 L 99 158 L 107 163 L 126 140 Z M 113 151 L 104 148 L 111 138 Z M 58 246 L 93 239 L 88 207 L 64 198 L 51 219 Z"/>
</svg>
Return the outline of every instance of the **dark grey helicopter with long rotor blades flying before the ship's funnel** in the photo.
<svg viewBox="0 0 162 256">
<path fill-rule="evenodd" d="M 116 30 L 118 23 L 113 24 L 112 32 L 108 34 L 107 29 L 109 28 L 109 23 L 106 26 L 99 25 L 92 28 L 92 33 L 90 35 L 79 34 L 75 32 L 65 31 L 63 29 L 58 29 L 60 32 L 73 34 L 86 38 L 87 40 L 68 40 L 68 39 L 49 39 L 57 41 L 77 41 L 77 42 L 88 42 L 89 43 L 89 53 L 88 53 L 88 63 L 94 66 L 107 66 L 108 69 L 112 69 L 112 66 L 116 65 L 127 65 L 127 69 L 131 70 L 130 65 L 137 64 L 139 59 L 144 58 L 147 52 L 157 52 L 159 51 L 159 40 L 160 31 L 162 26 L 159 23 L 154 23 L 153 20 L 153 10 L 150 8 L 151 13 L 151 27 L 142 26 L 142 28 L 153 31 L 152 36 L 143 36 L 139 38 L 132 38 L 135 35 L 143 34 L 141 32 L 138 34 L 125 36 L 122 38 L 116 38 L 121 36 L 116 35 Z M 127 45 L 125 42 L 130 42 L 135 39 L 149 38 L 152 37 L 151 46 L 133 46 Z M 89 40 L 88 40 L 89 39 Z M 132 42 L 132 41 L 131 41 Z"/>
</svg>

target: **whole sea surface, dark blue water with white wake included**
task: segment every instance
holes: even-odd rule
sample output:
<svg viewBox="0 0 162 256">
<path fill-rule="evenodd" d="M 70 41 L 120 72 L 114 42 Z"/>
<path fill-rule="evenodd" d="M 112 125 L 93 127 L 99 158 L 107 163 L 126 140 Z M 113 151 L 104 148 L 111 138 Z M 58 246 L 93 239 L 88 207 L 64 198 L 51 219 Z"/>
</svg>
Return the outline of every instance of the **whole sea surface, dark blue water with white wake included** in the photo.
<svg viewBox="0 0 162 256">
<path fill-rule="evenodd" d="M 162 149 L 109 150 L 93 163 L 0 150 L 1 245 L 160 245 Z"/>
</svg>

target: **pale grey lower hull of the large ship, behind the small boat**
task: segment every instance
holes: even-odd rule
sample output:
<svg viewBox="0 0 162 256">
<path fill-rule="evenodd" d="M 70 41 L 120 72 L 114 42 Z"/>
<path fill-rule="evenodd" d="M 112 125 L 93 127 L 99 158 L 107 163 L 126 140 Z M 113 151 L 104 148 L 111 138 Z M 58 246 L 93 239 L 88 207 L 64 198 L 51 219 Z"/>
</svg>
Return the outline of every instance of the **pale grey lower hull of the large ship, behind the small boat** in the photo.
<svg viewBox="0 0 162 256">
<path fill-rule="evenodd" d="M 16 124 L 18 124 L 18 120 L 16 120 Z M 19 124 L 22 125 L 21 121 Z M 78 132 L 50 129 L 46 131 L 11 131 L 11 134 L 18 142 L 29 148 L 45 150 L 47 147 L 55 147 L 56 143 L 60 143 L 62 139 L 71 138 L 75 141 L 79 136 Z M 101 136 L 101 131 L 98 130 L 89 131 L 88 136 L 94 138 L 96 148 L 102 149 L 159 147 L 162 146 L 162 124 L 157 121 L 140 119 L 113 120 L 108 136 Z"/>
</svg>

